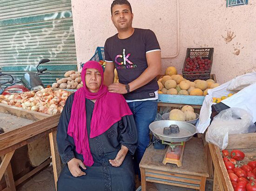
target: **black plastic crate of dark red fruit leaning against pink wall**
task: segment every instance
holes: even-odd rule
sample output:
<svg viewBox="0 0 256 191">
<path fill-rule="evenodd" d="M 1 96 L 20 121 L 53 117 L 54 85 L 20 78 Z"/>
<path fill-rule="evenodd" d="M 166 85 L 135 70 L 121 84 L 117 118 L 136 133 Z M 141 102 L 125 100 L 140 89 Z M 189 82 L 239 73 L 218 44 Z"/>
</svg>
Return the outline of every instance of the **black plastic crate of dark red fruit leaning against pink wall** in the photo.
<svg viewBox="0 0 256 191">
<path fill-rule="evenodd" d="M 186 61 L 187 58 L 196 58 L 200 57 L 202 59 L 208 59 L 211 61 L 210 68 L 207 71 L 194 71 L 194 72 L 187 72 L 185 71 Z M 183 68 L 182 68 L 182 75 L 184 78 L 190 81 L 195 81 L 197 79 L 200 80 L 208 80 L 210 79 L 211 69 L 213 65 L 213 48 L 187 48 L 187 55 L 184 60 Z"/>
</svg>

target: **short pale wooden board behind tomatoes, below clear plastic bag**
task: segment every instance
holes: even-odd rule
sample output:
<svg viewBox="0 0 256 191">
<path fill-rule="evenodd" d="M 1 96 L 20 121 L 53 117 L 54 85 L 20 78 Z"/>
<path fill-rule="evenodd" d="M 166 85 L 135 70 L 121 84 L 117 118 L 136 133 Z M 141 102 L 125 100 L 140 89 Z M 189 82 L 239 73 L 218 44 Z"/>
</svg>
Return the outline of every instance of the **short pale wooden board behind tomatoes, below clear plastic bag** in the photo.
<svg viewBox="0 0 256 191">
<path fill-rule="evenodd" d="M 256 148 L 256 133 L 230 134 L 226 149 Z"/>
</svg>

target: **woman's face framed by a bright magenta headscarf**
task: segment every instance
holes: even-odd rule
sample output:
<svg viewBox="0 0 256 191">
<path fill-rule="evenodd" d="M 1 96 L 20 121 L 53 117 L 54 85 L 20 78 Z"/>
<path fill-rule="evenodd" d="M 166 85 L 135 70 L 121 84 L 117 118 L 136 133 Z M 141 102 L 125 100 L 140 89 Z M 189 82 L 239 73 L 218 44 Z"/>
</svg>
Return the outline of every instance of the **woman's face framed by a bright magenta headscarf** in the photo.
<svg viewBox="0 0 256 191">
<path fill-rule="evenodd" d="M 87 68 L 85 73 L 85 84 L 90 92 L 98 92 L 101 86 L 101 73 L 97 69 Z"/>
</svg>

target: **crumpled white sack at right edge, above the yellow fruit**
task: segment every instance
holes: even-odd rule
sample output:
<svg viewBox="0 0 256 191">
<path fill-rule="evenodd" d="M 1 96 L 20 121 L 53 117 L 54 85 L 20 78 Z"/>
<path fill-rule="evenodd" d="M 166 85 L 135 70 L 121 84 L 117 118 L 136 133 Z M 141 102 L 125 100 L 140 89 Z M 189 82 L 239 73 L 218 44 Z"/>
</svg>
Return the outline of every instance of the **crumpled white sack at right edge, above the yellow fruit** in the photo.
<svg viewBox="0 0 256 191">
<path fill-rule="evenodd" d="M 228 86 L 229 90 L 241 90 L 250 86 L 251 84 L 256 83 L 256 72 L 247 73 L 242 76 L 235 77 L 230 81 Z"/>
</svg>

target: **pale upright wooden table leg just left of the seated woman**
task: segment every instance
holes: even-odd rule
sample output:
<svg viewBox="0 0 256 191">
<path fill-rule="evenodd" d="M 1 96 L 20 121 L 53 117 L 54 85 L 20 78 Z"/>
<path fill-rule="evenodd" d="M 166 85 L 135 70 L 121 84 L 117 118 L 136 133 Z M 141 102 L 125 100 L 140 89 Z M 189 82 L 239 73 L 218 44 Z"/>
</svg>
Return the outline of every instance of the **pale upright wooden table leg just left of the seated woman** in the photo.
<svg viewBox="0 0 256 191">
<path fill-rule="evenodd" d="M 57 131 L 54 131 L 49 134 L 50 139 L 50 145 L 51 145 L 51 153 L 52 153 L 52 160 L 53 160 L 53 176 L 54 176 L 54 183 L 55 183 L 55 189 L 57 191 L 57 181 L 59 174 L 61 172 L 61 165 L 60 165 L 60 157 L 56 142 L 56 134 Z"/>
</svg>

